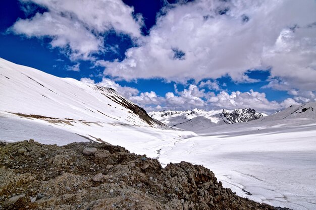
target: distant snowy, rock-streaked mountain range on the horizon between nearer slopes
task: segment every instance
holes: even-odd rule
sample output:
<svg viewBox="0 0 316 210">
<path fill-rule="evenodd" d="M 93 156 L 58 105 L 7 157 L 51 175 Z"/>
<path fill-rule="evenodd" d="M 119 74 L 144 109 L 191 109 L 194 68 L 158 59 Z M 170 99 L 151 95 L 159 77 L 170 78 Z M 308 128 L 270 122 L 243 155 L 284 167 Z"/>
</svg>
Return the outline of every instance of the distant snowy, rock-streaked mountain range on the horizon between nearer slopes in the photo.
<svg viewBox="0 0 316 210">
<path fill-rule="evenodd" d="M 256 112 L 254 109 L 221 109 L 211 111 L 204 111 L 202 109 L 186 111 L 168 110 L 149 112 L 148 115 L 167 125 L 193 131 L 223 124 L 248 122 L 266 116 Z"/>
</svg>

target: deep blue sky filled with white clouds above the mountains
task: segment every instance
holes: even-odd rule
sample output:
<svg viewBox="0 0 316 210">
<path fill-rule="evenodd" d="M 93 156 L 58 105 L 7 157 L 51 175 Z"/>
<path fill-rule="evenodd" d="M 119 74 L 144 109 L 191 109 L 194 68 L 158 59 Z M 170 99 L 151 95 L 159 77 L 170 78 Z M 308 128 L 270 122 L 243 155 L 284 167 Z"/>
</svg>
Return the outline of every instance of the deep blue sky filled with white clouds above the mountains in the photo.
<svg viewBox="0 0 316 210">
<path fill-rule="evenodd" d="M 316 100 L 315 0 L 5 0 L 0 57 L 147 111 Z"/>
</svg>

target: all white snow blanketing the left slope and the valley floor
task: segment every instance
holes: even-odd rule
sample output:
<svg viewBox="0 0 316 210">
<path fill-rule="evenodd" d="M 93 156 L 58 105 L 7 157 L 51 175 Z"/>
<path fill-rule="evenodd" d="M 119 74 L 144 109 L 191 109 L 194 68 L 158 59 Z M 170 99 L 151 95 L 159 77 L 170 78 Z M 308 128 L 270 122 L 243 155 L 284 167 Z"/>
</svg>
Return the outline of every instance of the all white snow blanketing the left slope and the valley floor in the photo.
<svg viewBox="0 0 316 210">
<path fill-rule="evenodd" d="M 124 99 L 113 90 L 4 59 L 0 99 L 0 141 L 33 138 L 66 145 L 88 141 L 83 135 L 158 158 L 163 166 L 180 161 L 203 165 L 239 196 L 294 210 L 316 209 L 315 102 L 249 122 L 203 128 L 195 122 L 194 133 L 148 124 L 123 106 Z M 51 118 L 27 116 L 31 114 Z M 180 120 L 182 114 L 175 116 Z M 209 117 L 214 115 L 216 111 Z M 203 116 L 195 120 L 214 123 Z"/>
</svg>

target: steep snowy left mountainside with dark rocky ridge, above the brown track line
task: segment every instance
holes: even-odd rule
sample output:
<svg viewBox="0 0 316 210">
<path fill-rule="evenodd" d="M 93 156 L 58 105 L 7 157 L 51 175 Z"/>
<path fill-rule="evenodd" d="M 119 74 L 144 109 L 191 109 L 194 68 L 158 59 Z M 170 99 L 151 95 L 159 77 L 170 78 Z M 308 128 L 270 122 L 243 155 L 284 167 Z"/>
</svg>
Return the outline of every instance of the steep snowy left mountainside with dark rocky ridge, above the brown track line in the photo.
<svg viewBox="0 0 316 210">
<path fill-rule="evenodd" d="M 58 119 L 164 126 L 115 90 L 0 59 L 0 111 Z"/>
</svg>

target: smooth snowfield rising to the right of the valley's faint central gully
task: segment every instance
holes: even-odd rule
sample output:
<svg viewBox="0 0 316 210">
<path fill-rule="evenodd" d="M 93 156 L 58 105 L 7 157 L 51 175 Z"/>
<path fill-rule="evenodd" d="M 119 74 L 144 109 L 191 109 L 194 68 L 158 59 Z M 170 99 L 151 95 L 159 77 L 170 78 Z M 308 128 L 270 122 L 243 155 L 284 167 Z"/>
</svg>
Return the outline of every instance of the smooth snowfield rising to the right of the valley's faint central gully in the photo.
<svg viewBox="0 0 316 210">
<path fill-rule="evenodd" d="M 162 163 L 206 166 L 237 195 L 294 210 L 316 209 L 316 102 L 244 123 L 198 130 L 161 149 Z"/>
</svg>

